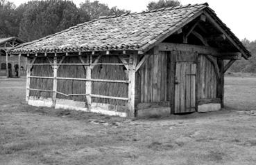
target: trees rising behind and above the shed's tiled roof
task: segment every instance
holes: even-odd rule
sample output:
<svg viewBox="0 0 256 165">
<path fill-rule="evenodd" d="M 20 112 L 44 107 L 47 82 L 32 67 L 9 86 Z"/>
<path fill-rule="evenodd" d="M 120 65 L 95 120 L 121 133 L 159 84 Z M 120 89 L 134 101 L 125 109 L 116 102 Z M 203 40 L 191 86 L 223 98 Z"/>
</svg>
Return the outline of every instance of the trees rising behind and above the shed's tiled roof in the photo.
<svg viewBox="0 0 256 165">
<path fill-rule="evenodd" d="M 160 0 L 148 3 L 146 10 L 178 5 L 180 2 L 176 0 Z M 127 12 L 130 10 L 110 8 L 99 1 L 89 0 L 80 3 L 80 6 L 69 0 L 28 1 L 19 6 L 0 0 L 0 37 L 15 36 L 32 41 L 103 15 Z"/>
</svg>

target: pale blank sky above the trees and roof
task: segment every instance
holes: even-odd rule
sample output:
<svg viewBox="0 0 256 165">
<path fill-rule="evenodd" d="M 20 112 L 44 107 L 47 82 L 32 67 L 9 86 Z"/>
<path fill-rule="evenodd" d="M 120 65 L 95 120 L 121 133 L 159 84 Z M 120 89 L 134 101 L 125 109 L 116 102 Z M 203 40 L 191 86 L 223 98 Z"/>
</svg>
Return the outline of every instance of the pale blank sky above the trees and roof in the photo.
<svg viewBox="0 0 256 165">
<path fill-rule="evenodd" d="M 19 6 L 28 0 L 9 0 Z M 77 6 L 85 0 L 73 0 Z M 93 0 L 90 0 L 93 1 Z M 108 6 L 117 6 L 132 12 L 146 10 L 146 5 L 156 0 L 98 0 Z M 180 0 L 182 5 L 194 3 L 209 3 L 218 17 L 234 32 L 239 39 L 256 40 L 256 1 L 255 0 Z"/>
</svg>

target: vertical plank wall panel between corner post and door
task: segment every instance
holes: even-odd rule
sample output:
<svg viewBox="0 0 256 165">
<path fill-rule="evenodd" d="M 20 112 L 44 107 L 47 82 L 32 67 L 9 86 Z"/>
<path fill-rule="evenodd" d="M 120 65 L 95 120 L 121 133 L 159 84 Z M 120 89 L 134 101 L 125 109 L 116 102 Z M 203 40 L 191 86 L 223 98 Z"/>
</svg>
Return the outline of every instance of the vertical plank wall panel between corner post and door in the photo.
<svg viewBox="0 0 256 165">
<path fill-rule="evenodd" d="M 151 55 L 136 72 L 135 104 L 169 100 L 168 57 L 169 52 Z"/>
</svg>

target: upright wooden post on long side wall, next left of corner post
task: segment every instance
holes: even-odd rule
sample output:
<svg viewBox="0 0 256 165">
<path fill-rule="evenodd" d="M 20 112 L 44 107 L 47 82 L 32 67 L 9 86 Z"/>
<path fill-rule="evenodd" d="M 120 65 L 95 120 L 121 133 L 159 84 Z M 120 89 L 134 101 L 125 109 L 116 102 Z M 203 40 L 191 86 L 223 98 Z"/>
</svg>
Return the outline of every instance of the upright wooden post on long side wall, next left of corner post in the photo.
<svg viewBox="0 0 256 165">
<path fill-rule="evenodd" d="M 87 63 L 89 63 L 89 66 L 86 66 L 86 79 L 92 79 L 92 55 L 89 55 L 87 57 Z M 86 88 L 86 99 L 87 99 L 87 108 L 88 110 L 91 110 L 92 106 L 92 81 L 86 81 L 85 83 Z"/>
</svg>

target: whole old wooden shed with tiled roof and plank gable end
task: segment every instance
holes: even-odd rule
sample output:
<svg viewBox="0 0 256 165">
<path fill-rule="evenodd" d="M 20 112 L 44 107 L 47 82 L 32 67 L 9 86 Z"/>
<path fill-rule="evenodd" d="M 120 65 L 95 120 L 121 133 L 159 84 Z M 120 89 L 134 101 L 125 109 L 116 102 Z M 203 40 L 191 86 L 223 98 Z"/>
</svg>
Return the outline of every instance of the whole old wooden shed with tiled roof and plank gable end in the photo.
<svg viewBox="0 0 256 165">
<path fill-rule="evenodd" d="M 10 53 L 29 59 L 28 104 L 121 117 L 219 110 L 224 72 L 250 57 L 207 3 L 101 17 Z"/>
</svg>

